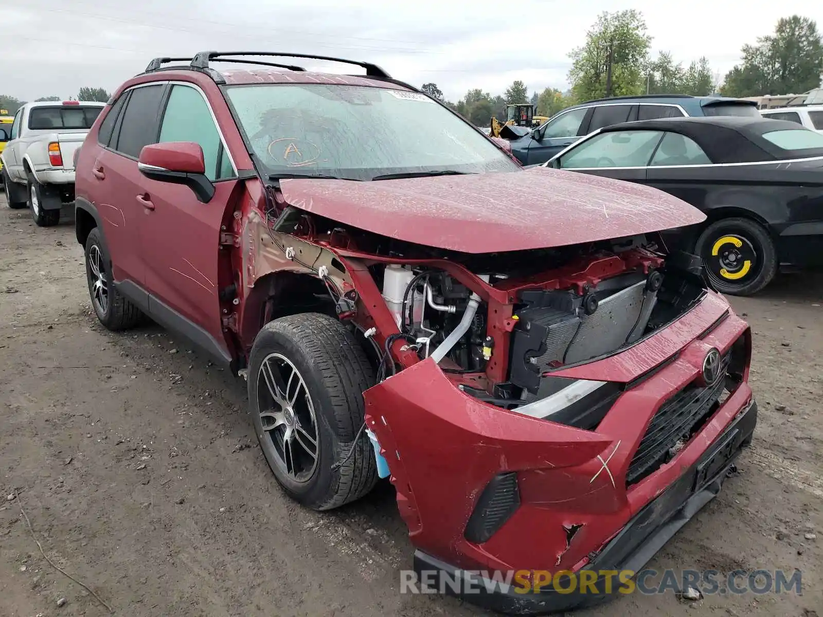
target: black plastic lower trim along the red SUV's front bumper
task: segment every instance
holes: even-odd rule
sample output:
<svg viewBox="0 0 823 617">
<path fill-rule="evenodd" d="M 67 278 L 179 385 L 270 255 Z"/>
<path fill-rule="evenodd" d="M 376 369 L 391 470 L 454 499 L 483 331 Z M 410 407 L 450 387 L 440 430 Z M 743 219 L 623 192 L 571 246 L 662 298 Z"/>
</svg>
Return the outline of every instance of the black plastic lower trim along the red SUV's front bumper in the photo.
<svg viewBox="0 0 823 617">
<path fill-rule="evenodd" d="M 615 579 L 613 584 L 607 586 L 606 578 L 599 576 L 599 573 L 636 573 L 644 568 L 700 508 L 717 496 L 742 448 L 751 443 L 756 423 L 757 404 L 752 400 L 694 465 L 642 508 L 582 568 L 595 573 L 591 577 L 597 581 L 593 585 L 597 591 L 595 593 L 582 593 L 579 585 L 572 592 L 556 591 L 551 586 L 542 587 L 537 592 L 523 592 L 522 587 L 500 583 L 506 579 L 505 576 L 495 582 L 478 573 L 455 568 L 421 550 L 414 555 L 418 580 L 472 604 L 509 615 L 546 615 L 607 601 L 618 593 L 620 585 Z M 460 583 L 455 584 L 455 581 Z M 587 587 L 587 591 L 593 587 Z"/>
</svg>

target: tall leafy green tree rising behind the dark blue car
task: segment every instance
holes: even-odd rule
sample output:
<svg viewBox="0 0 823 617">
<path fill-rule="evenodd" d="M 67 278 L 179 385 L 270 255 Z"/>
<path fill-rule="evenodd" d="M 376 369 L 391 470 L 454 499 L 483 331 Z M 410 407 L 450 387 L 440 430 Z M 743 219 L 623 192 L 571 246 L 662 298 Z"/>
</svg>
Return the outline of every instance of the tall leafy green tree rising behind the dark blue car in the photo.
<svg viewBox="0 0 823 617">
<path fill-rule="evenodd" d="M 583 101 L 643 92 L 651 41 L 642 13 L 601 13 L 586 43 L 569 54 L 574 97 Z"/>
</svg>

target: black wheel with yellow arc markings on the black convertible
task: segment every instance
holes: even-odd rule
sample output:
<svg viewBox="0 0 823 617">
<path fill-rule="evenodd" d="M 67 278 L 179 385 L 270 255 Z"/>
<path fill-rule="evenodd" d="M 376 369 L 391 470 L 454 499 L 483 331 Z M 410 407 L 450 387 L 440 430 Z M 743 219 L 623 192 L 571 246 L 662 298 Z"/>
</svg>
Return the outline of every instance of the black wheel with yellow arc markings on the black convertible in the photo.
<svg viewBox="0 0 823 617">
<path fill-rule="evenodd" d="M 777 272 L 777 252 L 769 232 L 754 220 L 721 219 L 709 225 L 695 245 L 704 271 L 723 294 L 752 295 Z"/>
</svg>

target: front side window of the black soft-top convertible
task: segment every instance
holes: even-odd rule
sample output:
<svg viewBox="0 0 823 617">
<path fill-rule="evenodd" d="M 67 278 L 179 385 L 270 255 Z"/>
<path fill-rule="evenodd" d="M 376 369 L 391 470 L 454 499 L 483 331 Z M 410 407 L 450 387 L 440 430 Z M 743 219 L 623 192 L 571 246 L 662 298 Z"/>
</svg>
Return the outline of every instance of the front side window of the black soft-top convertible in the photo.
<svg viewBox="0 0 823 617">
<path fill-rule="evenodd" d="M 660 131 L 603 132 L 561 156 L 560 169 L 646 167 L 660 137 Z"/>
</svg>

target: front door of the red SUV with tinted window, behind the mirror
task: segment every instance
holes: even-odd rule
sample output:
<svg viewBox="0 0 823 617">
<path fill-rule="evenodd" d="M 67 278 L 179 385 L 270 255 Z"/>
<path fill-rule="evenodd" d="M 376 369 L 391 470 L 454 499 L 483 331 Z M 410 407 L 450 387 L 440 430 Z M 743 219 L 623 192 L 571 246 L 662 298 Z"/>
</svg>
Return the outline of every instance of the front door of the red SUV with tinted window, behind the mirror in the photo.
<svg viewBox="0 0 823 617">
<path fill-rule="evenodd" d="M 201 91 L 175 83 L 167 96 L 158 142 L 193 141 L 201 146 L 215 194 L 202 203 L 183 184 L 140 176 L 140 194 L 132 198 L 143 210 L 139 232 L 146 248 L 149 312 L 229 357 L 221 327 L 218 259 L 223 217 L 231 200 L 238 198 L 237 172 Z"/>
</svg>

